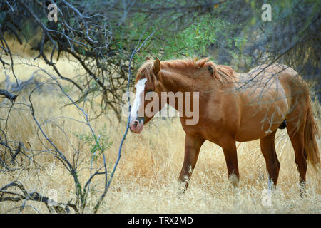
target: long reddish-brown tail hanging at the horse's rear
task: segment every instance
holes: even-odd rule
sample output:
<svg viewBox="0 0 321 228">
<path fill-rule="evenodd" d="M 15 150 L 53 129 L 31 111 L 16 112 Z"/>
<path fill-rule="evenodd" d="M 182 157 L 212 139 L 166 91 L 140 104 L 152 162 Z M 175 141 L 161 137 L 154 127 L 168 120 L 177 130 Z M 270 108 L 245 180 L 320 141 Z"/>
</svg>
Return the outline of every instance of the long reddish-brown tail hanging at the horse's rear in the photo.
<svg viewBox="0 0 321 228">
<path fill-rule="evenodd" d="M 307 107 L 307 120 L 305 122 L 304 133 L 305 152 L 307 154 L 307 161 L 310 162 L 314 170 L 320 170 L 320 154 L 317 148 L 317 137 L 319 137 L 319 130 L 315 119 L 313 118 L 312 107 L 310 100 Z"/>
</svg>

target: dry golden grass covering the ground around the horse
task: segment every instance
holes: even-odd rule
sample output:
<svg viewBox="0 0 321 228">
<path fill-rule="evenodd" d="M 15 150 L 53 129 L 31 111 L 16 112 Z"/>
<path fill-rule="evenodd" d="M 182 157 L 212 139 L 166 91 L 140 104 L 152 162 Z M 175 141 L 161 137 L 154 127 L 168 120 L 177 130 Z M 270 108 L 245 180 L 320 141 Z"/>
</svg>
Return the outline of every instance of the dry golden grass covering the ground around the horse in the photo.
<svg viewBox="0 0 321 228">
<path fill-rule="evenodd" d="M 19 50 L 17 51 L 19 52 Z M 29 57 L 26 57 L 27 59 Z M 16 63 L 24 59 L 16 58 Z M 34 64 L 46 68 L 42 61 Z M 76 76 L 81 73 L 75 63 L 61 59 L 57 63 L 63 74 Z M 16 64 L 16 75 L 26 79 L 36 70 L 34 66 Z M 1 72 L 3 68 L 1 68 Z M 11 72 L 7 72 L 11 75 Z M 39 73 L 43 74 L 44 73 Z M 1 73 L 1 78 L 4 78 Z M 41 80 L 48 77 L 44 75 Z M 2 80 L 2 79 L 1 79 Z M 11 77 L 11 81 L 14 79 Z M 2 86 L 4 84 L 1 84 Z M 63 82 L 63 85 L 67 85 Z M 76 92 L 70 91 L 71 96 Z M 74 199 L 75 186 L 73 178 L 65 167 L 54 156 L 39 152 L 44 149 L 44 137 L 36 127 L 29 110 L 24 110 L 19 103 L 29 103 L 29 90 L 23 90 L 16 100 L 15 108 L 11 110 L 7 136 L 19 140 L 34 150 L 34 161 L 29 169 L 12 172 L 0 172 L 0 187 L 13 180 L 24 183 L 29 192 L 37 191 L 48 195 L 54 189 L 58 193 L 58 202 L 68 202 Z M 98 98 L 97 98 L 98 99 Z M 0 100 L 3 102 L 4 99 Z M 91 161 L 91 146 L 84 143 L 77 135 L 89 134 L 86 125 L 70 119 L 54 118 L 65 116 L 83 120 L 81 113 L 55 87 L 51 90 L 36 92 L 32 95 L 36 118 L 43 123 L 43 128 L 57 147 L 72 160 L 73 148 L 80 150 L 79 167 L 80 180 L 85 182 L 89 177 Z M 315 110 L 320 105 L 313 104 Z M 26 108 L 25 108 L 26 109 Z M 86 108 L 85 108 L 86 110 Z M 91 112 L 89 110 L 88 114 Z M 5 118 L 8 108 L 1 108 L 1 118 Z M 46 120 L 51 120 L 46 122 Z M 320 119 L 317 119 L 320 125 Z M 126 129 L 126 120 L 119 122 L 112 112 L 102 115 L 91 122 L 96 133 L 102 132 L 102 137 L 108 137 L 112 145 L 106 150 L 106 159 L 110 167 L 116 161 L 118 147 Z M 60 128 L 66 132 L 63 135 Z M 307 195 L 300 197 L 299 175 L 295 166 L 295 155 L 286 130 L 278 130 L 276 150 L 280 160 L 280 177 L 277 189 L 272 192 L 270 206 L 264 203 L 267 174 L 265 161 L 260 152 L 259 141 L 242 142 L 238 146 L 238 164 L 240 169 L 240 186 L 233 188 L 228 182 L 227 168 L 223 151 L 217 145 L 205 142 L 200 150 L 198 163 L 193 172 L 192 180 L 184 195 L 178 192 L 178 175 L 183 165 L 184 132 L 178 118 L 162 120 L 155 118 L 146 126 L 141 135 L 128 133 L 122 150 L 122 156 L 111 188 L 101 204 L 98 213 L 320 213 L 321 186 L 320 173 L 307 171 Z M 321 147 L 320 140 L 319 147 Z M 102 158 L 94 161 L 102 165 Z M 90 213 L 97 197 L 103 191 L 103 178 L 99 177 L 91 185 L 90 201 L 85 212 Z M 16 213 L 12 209 L 21 202 L 0 202 L 0 213 Z M 39 202 L 27 202 L 41 213 L 48 210 Z M 12 209 L 12 210 L 11 210 Z M 31 207 L 26 207 L 22 213 L 36 213 Z"/>
</svg>

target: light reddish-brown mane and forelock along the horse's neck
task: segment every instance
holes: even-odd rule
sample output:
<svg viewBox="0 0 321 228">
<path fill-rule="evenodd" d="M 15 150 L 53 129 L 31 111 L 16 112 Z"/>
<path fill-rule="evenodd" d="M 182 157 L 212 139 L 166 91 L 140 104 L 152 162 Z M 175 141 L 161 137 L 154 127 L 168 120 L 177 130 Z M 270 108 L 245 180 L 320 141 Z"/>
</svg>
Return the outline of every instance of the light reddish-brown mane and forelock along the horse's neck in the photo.
<svg viewBox="0 0 321 228">
<path fill-rule="evenodd" d="M 194 68 L 195 70 L 211 66 L 213 69 L 213 76 L 215 79 L 220 81 L 220 83 L 233 81 L 235 78 L 235 71 L 229 66 L 216 65 L 212 61 L 208 61 L 209 58 L 202 58 L 198 60 L 197 58 L 187 58 L 187 59 L 175 59 L 172 61 L 161 61 L 161 69 L 186 69 Z M 153 72 L 153 60 L 148 60 L 143 63 L 141 68 L 138 69 L 136 83 L 141 78 L 146 76 L 149 78 Z M 147 74 L 147 75 L 146 75 Z"/>
</svg>

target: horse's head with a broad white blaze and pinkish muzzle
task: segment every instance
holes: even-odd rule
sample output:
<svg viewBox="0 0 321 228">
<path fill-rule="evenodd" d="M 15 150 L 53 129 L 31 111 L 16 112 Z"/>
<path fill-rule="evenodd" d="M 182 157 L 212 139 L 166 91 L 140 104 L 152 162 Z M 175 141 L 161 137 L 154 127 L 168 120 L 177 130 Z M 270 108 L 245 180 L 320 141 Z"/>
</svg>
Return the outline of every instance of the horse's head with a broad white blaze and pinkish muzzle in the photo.
<svg viewBox="0 0 321 228">
<path fill-rule="evenodd" d="M 161 61 L 159 61 L 158 58 L 156 58 L 155 61 L 152 61 L 148 57 L 141 68 L 138 69 L 136 85 L 134 88 L 134 90 L 136 90 L 136 98 L 133 102 L 133 107 L 131 108 L 131 120 L 129 123 L 133 133 L 141 133 L 143 126 L 163 108 L 160 100 L 155 100 L 161 98 L 161 91 L 159 90 L 160 83 L 158 81 L 160 71 Z M 152 108 L 146 108 L 148 103 L 151 103 L 152 101 L 159 105 L 153 105 Z"/>
</svg>

